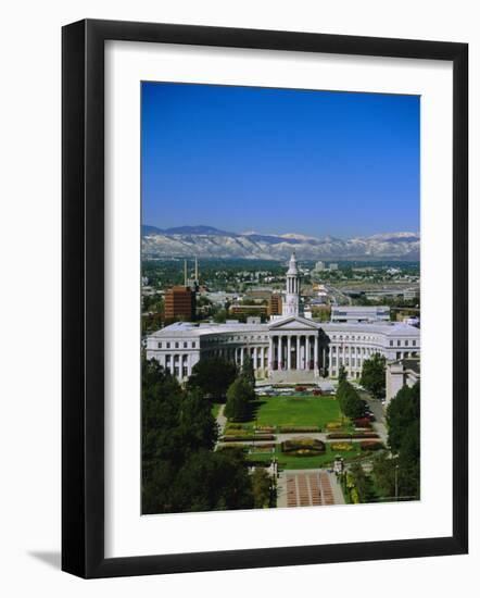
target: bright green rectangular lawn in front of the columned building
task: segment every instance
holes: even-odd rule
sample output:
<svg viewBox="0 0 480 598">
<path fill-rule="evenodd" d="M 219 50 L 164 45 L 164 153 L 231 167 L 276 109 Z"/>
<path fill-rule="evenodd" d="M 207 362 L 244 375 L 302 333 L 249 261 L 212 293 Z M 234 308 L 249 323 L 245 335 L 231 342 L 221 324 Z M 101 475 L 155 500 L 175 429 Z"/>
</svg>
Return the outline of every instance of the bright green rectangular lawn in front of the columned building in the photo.
<svg viewBox="0 0 480 598">
<path fill-rule="evenodd" d="M 337 399 L 298 395 L 293 397 L 270 397 L 255 401 L 251 421 L 257 425 L 271 426 L 320 426 L 341 421 L 342 414 Z"/>
</svg>

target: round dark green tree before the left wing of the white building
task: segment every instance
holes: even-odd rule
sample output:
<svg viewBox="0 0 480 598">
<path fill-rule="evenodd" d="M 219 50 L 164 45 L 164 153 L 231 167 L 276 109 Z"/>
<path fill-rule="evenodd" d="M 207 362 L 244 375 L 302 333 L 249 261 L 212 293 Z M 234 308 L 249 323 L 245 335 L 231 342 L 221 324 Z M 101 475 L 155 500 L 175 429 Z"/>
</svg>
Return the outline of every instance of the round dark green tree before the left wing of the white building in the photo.
<svg viewBox="0 0 480 598">
<path fill-rule="evenodd" d="M 203 396 L 222 399 L 237 376 L 237 366 L 223 358 L 201 359 L 193 365 L 188 381 L 190 388 L 200 388 Z"/>
</svg>

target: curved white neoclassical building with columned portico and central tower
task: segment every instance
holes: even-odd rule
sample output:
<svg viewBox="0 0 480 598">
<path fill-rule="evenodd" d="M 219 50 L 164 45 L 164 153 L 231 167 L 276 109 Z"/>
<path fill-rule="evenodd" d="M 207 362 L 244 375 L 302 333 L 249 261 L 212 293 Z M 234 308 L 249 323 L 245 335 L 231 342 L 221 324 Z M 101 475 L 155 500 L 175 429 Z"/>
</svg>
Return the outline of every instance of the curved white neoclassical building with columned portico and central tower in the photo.
<svg viewBox="0 0 480 598">
<path fill-rule="evenodd" d="M 290 384 L 337 377 L 341 365 L 349 378 L 358 378 L 365 360 L 375 353 L 388 361 L 419 356 L 420 331 L 414 326 L 303 317 L 294 256 L 289 263 L 286 297 L 282 315 L 274 315 L 264 324 L 249 317 L 245 324 L 177 322 L 165 326 L 147 338 L 147 358 L 156 359 L 184 382 L 200 359 L 223 357 L 241 365 L 249 354 L 257 378 Z M 251 306 L 233 307 L 251 310 Z"/>
</svg>

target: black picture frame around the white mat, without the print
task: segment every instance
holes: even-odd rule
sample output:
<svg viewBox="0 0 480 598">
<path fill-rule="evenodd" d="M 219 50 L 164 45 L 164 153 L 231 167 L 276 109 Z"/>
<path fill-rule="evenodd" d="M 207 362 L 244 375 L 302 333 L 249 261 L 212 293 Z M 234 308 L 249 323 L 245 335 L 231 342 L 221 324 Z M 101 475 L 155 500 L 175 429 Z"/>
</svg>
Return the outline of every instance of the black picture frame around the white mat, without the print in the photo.
<svg viewBox="0 0 480 598">
<path fill-rule="evenodd" d="M 104 557 L 104 42 L 144 41 L 453 63 L 453 535 Z M 86 20 L 62 30 L 62 569 L 81 577 L 462 555 L 468 550 L 468 45 Z"/>
</svg>

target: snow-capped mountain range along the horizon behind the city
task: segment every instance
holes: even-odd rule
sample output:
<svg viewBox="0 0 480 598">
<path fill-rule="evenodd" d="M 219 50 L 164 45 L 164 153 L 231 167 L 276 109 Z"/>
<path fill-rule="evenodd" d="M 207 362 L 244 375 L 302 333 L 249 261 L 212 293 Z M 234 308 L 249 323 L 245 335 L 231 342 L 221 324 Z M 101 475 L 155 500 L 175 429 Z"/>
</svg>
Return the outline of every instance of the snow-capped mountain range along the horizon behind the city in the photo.
<svg viewBox="0 0 480 598">
<path fill-rule="evenodd" d="M 419 260 L 418 233 L 383 233 L 370 237 L 316 238 L 289 233 L 229 233 L 213 226 L 161 229 L 142 226 L 143 258 L 243 258 L 286 260 L 292 250 L 301 260 Z"/>
</svg>

